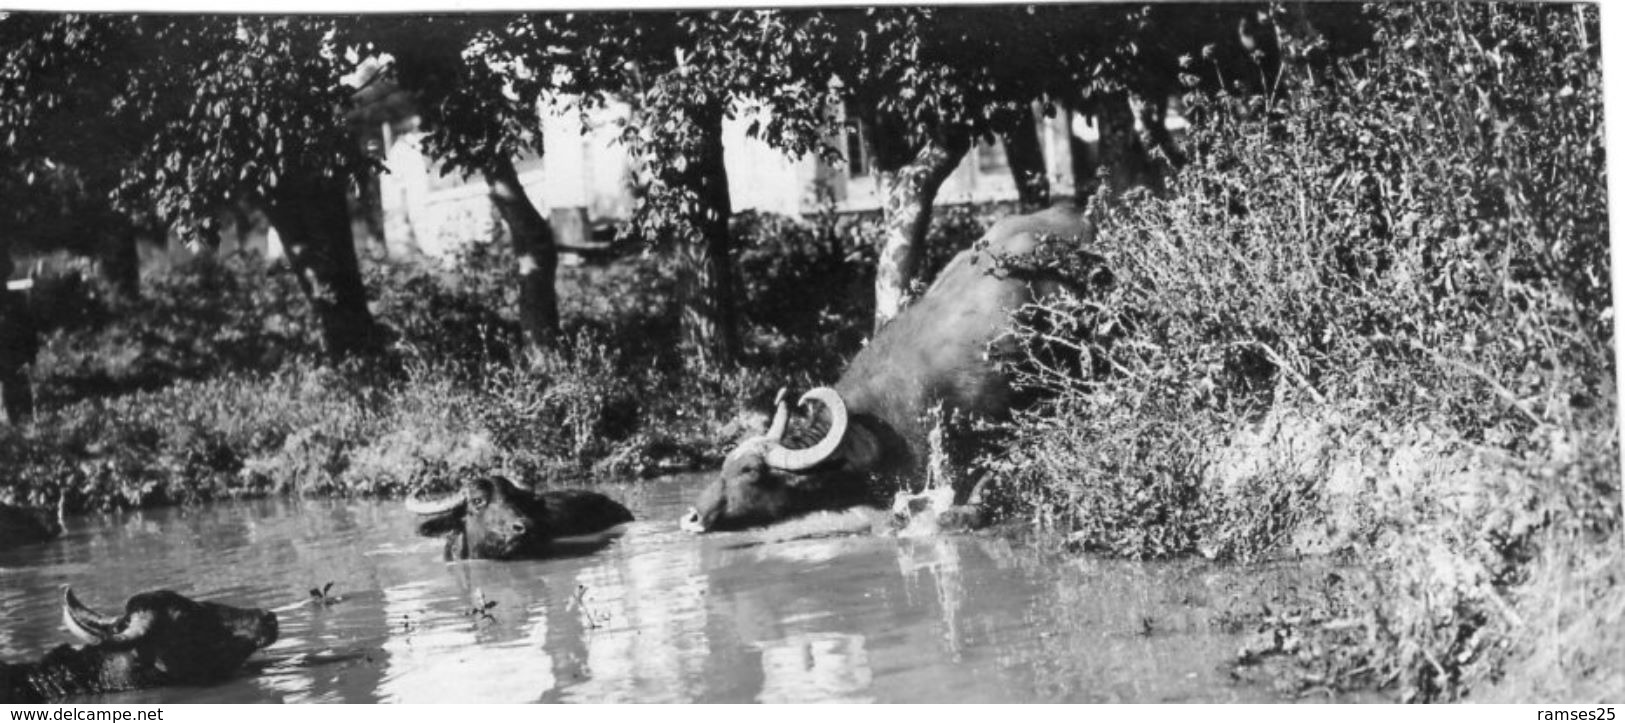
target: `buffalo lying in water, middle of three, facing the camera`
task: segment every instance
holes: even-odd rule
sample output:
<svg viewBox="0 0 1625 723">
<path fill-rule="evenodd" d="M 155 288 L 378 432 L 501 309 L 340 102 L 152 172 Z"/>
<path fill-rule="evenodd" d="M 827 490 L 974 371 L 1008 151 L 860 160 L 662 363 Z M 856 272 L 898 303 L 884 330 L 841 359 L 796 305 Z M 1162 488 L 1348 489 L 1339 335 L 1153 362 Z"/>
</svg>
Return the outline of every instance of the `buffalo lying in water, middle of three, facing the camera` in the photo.
<svg viewBox="0 0 1625 723">
<path fill-rule="evenodd" d="M 424 517 L 419 535 L 445 535 L 445 559 L 523 559 L 559 554 L 559 538 L 593 535 L 632 522 L 619 502 L 598 492 L 531 492 L 499 476 L 463 483 L 440 499 L 411 497 L 406 509 Z"/>
</svg>

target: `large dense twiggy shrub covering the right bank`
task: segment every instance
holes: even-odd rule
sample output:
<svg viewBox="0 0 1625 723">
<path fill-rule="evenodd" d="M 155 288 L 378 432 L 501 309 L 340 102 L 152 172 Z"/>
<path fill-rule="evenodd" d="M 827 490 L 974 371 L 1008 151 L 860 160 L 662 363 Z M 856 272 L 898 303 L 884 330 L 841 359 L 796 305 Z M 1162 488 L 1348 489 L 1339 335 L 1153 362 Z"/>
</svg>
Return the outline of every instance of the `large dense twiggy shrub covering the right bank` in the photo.
<svg viewBox="0 0 1625 723">
<path fill-rule="evenodd" d="M 1589 570 L 1575 585 L 1591 601 L 1625 600 L 1618 556 L 1597 564 L 1620 539 L 1597 18 L 1367 11 L 1376 42 L 1331 83 L 1193 96 L 1191 164 L 1167 195 L 1097 210 L 1116 283 L 1045 309 L 1079 320 L 1097 374 L 1029 369 L 1056 396 L 1001 465 L 1034 518 L 1123 556 L 1253 559 L 1357 520 L 1341 549 L 1388 572 L 1263 621 L 1274 643 L 1251 658 L 1298 660 L 1303 687 L 1459 699 L 1503 679 L 1508 650 L 1534 645 L 1524 621 L 1562 603 L 1532 577 Z M 1025 335 L 1037 346 L 1050 328 Z M 1360 422 L 1328 427 L 1336 452 L 1311 474 L 1214 484 L 1240 431 L 1326 414 Z M 1337 455 L 1394 468 L 1410 448 L 1471 473 L 1412 465 L 1396 474 L 1414 492 L 1329 502 Z M 1609 692 L 1625 656 L 1617 635 L 1597 643 L 1615 650 L 1570 639 L 1568 668 L 1532 674 Z"/>
</svg>

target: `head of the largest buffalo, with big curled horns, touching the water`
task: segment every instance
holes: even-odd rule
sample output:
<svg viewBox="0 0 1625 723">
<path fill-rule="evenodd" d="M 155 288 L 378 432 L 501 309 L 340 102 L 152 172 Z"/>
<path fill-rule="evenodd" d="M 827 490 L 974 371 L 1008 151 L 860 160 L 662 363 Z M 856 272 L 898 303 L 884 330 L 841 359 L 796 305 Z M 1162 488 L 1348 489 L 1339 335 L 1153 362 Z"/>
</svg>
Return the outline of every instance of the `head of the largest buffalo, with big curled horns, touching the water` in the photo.
<svg viewBox="0 0 1625 723">
<path fill-rule="evenodd" d="M 722 474 L 700 491 L 681 528 L 696 533 L 743 530 L 786 517 L 858 504 L 866 499 L 866 470 L 878 457 L 874 437 L 853 422 L 840 393 L 819 387 L 801 395 L 829 413 L 829 429 L 808 448 L 785 447 L 790 421 L 785 392 L 767 434 L 751 437 L 722 463 Z"/>
</svg>

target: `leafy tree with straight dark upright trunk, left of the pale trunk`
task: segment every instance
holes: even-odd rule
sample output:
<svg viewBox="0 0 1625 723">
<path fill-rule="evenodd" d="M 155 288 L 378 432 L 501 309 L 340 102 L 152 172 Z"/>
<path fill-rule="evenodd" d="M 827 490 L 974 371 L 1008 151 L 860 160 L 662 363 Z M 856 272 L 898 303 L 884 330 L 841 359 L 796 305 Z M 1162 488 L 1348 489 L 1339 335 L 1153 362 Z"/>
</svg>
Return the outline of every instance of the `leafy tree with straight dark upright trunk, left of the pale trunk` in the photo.
<svg viewBox="0 0 1625 723">
<path fill-rule="evenodd" d="M 751 135 L 806 153 L 827 117 L 822 104 L 804 102 L 819 96 L 785 67 L 778 41 L 786 31 L 772 11 L 746 10 L 673 13 L 670 23 L 603 13 L 554 24 L 554 37 L 575 49 L 559 58 L 561 88 L 634 104 L 622 132 L 642 166 L 632 229 L 678 252 L 684 328 L 702 359 L 722 364 L 739 354 L 723 122 L 752 112 Z"/>
</svg>

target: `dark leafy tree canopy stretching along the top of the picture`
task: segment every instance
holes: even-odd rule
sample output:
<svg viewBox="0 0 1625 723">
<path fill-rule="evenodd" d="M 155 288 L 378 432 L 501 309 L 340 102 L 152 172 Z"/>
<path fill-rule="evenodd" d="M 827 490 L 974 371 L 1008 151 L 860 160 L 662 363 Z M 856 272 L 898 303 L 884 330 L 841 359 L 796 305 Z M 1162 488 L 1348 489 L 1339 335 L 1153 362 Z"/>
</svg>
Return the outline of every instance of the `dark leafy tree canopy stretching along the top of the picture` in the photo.
<svg viewBox="0 0 1625 723">
<path fill-rule="evenodd" d="M 68 179 L 117 187 L 125 211 L 151 211 L 205 242 L 218 231 L 221 203 L 314 203 L 289 193 L 317 185 L 338 193 L 377 171 L 351 123 L 354 84 L 375 81 L 359 73 L 369 58 L 390 57 L 374 78 L 414 96 L 424 149 L 447 171 L 484 174 L 492 188 L 515 175 L 514 158 L 541 149 L 544 106 L 569 99 L 585 114 L 609 96 L 624 97 L 637 107 L 624 141 L 645 169 L 634 227 L 653 240 L 708 239 L 712 250 L 694 260 L 718 275 L 700 286 L 726 317 L 733 289 L 723 278 L 731 265 L 722 237 L 731 213 L 720 180 L 723 120 L 746 117 L 749 135 L 826 159 L 843 151 L 832 143 L 838 123 L 873 123 L 895 231 L 881 260 L 900 271 L 882 278 L 897 286 L 890 296 L 902 297 L 915 275 L 910 239 L 925 237 L 936 185 L 972 140 L 1027 143 L 1012 158 L 1032 171 L 1042 167 L 1030 138 L 1035 104 L 1055 112 L 1082 99 L 1115 107 L 1124 93 L 1157 99 L 1188 86 L 1269 86 L 1268 28 L 1263 6 L 1232 3 L 39 15 L 6 19 L 3 32 L 16 42 L 0 91 L 31 89 L 6 91 L 26 96 L 3 110 L 10 127 L 31 133 L 8 149 L 13 159 L 37 164 L 47 158 L 41 148 L 52 145 L 62 148 L 57 154 L 104 159 L 94 166 L 109 172 Z M 50 122 L 58 117 L 73 122 Z M 101 132 L 75 123 L 99 123 Z M 496 190 L 494 198 L 512 216 L 510 227 L 535 231 L 515 239 L 541 239 L 546 219 L 515 193 L 517 184 L 505 188 L 502 198 L 514 203 L 504 205 Z M 330 214 L 335 227 L 318 245 L 349 245 Z M 280 218 L 291 223 L 297 214 Z M 302 255 L 310 263 L 333 260 L 335 270 L 348 265 L 343 257 Z"/>
</svg>

